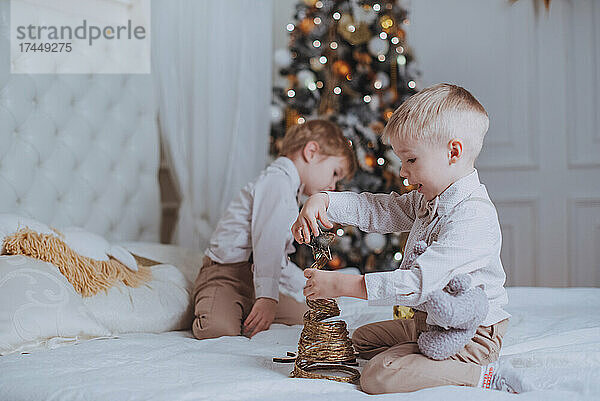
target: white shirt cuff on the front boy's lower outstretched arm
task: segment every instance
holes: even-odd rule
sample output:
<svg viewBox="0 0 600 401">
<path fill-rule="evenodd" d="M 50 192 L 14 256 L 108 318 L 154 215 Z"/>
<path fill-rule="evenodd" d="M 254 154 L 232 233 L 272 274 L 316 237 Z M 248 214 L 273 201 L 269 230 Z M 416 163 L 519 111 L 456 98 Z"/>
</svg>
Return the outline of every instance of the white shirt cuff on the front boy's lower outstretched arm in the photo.
<svg viewBox="0 0 600 401">
<path fill-rule="evenodd" d="M 369 305 L 416 306 L 420 298 L 420 272 L 397 269 L 365 274 Z"/>
</svg>

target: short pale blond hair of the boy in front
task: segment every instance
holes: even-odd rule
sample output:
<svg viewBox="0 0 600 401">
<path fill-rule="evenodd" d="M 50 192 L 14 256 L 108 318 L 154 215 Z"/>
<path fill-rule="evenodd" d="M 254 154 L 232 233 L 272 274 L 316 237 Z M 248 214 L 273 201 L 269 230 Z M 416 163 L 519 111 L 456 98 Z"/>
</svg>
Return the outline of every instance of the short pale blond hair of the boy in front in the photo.
<svg viewBox="0 0 600 401">
<path fill-rule="evenodd" d="M 382 134 L 386 143 L 394 139 L 447 143 L 461 139 L 475 161 L 489 127 L 488 114 L 465 88 L 437 84 L 425 88 L 400 105 Z"/>
</svg>

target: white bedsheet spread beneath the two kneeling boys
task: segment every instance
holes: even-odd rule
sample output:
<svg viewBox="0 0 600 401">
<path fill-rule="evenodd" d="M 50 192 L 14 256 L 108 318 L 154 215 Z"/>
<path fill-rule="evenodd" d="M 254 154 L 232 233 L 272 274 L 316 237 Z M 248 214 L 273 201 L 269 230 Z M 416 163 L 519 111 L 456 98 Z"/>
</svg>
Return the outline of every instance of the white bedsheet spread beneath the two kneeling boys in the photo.
<svg viewBox="0 0 600 401">
<path fill-rule="evenodd" d="M 544 390 L 519 400 L 600 399 L 600 289 L 510 288 L 513 315 L 501 360 Z M 351 329 L 391 308 L 341 299 Z M 131 334 L 0 357 L 1 400 L 500 400 L 466 387 L 367 396 L 357 386 L 291 379 L 274 356 L 296 351 L 301 326 L 274 325 L 253 339 L 198 341 L 190 332 Z M 364 363 L 364 362 L 363 362 Z"/>
</svg>

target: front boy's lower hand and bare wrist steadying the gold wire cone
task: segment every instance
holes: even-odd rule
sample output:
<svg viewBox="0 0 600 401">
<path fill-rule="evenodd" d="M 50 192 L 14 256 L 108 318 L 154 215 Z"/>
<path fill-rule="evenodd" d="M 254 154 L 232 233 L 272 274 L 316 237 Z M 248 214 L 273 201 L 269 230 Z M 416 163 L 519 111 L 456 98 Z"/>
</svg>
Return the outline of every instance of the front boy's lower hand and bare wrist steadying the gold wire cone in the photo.
<svg viewBox="0 0 600 401">
<path fill-rule="evenodd" d="M 310 300 L 341 296 L 367 299 L 363 275 L 306 269 L 304 277 L 308 279 L 304 286 L 304 296 Z"/>
</svg>

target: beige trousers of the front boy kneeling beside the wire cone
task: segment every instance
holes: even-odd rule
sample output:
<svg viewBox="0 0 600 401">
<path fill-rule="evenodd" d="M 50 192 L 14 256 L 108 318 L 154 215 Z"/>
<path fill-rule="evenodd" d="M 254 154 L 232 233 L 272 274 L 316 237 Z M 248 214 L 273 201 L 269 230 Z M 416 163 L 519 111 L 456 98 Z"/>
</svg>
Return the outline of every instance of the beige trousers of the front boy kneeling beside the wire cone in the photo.
<svg viewBox="0 0 600 401">
<path fill-rule="evenodd" d="M 498 359 L 504 319 L 492 326 L 479 326 L 475 337 L 459 353 L 443 361 L 421 354 L 417 338 L 427 330 L 427 314 L 417 311 L 413 319 L 387 320 L 359 327 L 352 336 L 361 358 L 370 359 L 360 377 L 366 393 L 404 393 L 428 387 L 477 386 L 480 365 Z"/>
</svg>

